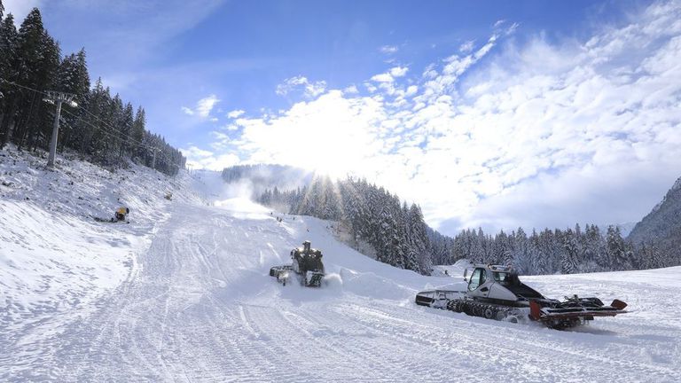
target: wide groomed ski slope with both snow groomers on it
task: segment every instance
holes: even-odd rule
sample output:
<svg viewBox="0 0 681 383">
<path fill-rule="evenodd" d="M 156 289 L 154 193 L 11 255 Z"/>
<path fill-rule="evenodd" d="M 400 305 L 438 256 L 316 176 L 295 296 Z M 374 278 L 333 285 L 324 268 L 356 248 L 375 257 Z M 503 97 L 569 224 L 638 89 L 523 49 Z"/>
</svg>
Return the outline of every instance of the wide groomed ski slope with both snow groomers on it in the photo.
<svg viewBox="0 0 681 383">
<path fill-rule="evenodd" d="M 628 315 L 558 332 L 418 307 L 414 293 L 461 285 L 460 270 L 396 270 L 337 242 L 330 223 L 291 215 L 278 223 L 246 199 L 198 194 L 215 204 L 176 200 L 159 205 L 159 223 L 136 226 L 133 215 L 116 227 L 146 230 L 148 240 L 130 247 L 134 262 L 119 285 L 40 321 L 5 316 L 0 380 L 681 381 L 681 268 L 523 278 L 552 297 L 630 303 Z M 323 289 L 268 275 L 304 239 L 324 250 L 333 273 Z"/>
</svg>

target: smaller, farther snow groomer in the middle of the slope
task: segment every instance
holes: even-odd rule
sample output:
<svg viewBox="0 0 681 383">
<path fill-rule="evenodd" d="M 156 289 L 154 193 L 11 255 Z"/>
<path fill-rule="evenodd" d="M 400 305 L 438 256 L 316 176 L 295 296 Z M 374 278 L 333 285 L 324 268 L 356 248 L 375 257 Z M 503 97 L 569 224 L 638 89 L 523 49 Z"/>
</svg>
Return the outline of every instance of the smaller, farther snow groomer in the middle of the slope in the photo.
<svg viewBox="0 0 681 383">
<path fill-rule="evenodd" d="M 322 252 L 311 247 L 309 241 L 302 243 L 302 247 L 291 250 L 290 265 L 274 266 L 270 269 L 270 277 L 276 277 L 282 285 L 288 283 L 292 274 L 298 278 L 301 285 L 318 287 L 322 285 L 325 276 Z"/>
</svg>

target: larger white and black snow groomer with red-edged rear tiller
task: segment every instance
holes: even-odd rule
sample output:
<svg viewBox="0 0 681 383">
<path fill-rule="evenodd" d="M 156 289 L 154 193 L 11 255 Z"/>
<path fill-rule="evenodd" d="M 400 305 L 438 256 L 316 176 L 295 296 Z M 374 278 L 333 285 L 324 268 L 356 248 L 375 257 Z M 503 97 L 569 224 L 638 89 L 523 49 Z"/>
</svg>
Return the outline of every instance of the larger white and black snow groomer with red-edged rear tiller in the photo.
<svg viewBox="0 0 681 383">
<path fill-rule="evenodd" d="M 610 305 L 603 304 L 598 298 L 580 298 L 576 295 L 566 297 L 565 301 L 548 299 L 537 293 L 518 278 L 513 268 L 498 265 L 474 265 L 473 273 L 464 280 L 468 282 L 466 291 L 447 292 L 455 294 L 453 299 L 442 299 L 442 293 L 434 296 L 429 306 L 444 307 L 456 312 L 464 312 L 474 317 L 519 322 L 526 318 L 541 322 L 548 327 L 564 329 L 584 324 L 594 317 L 614 317 L 623 314 L 627 304 L 614 300 Z M 440 291 L 435 291 L 440 292 Z M 433 292 L 433 293 L 435 293 Z M 431 292 L 417 294 L 417 304 L 427 303 Z M 420 303 L 419 303 L 420 301 Z"/>
</svg>

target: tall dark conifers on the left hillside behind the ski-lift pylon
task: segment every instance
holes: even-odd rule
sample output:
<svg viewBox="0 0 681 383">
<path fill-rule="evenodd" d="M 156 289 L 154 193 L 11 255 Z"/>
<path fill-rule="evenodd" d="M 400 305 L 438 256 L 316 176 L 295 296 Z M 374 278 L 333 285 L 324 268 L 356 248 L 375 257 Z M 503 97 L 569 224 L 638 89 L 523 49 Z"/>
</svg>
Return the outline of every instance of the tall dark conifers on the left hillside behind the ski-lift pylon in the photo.
<svg viewBox="0 0 681 383">
<path fill-rule="evenodd" d="M 48 149 L 56 111 L 43 98 L 51 90 L 73 94 L 78 105 L 62 107 L 59 152 L 68 148 L 103 166 L 133 160 L 168 175 L 184 168 L 182 152 L 146 129 L 142 106 L 135 110 L 112 96 L 101 79 L 90 88 L 84 49 L 62 57 L 37 8 L 17 30 L 0 0 L 0 149 L 8 142 L 19 150 Z"/>
</svg>

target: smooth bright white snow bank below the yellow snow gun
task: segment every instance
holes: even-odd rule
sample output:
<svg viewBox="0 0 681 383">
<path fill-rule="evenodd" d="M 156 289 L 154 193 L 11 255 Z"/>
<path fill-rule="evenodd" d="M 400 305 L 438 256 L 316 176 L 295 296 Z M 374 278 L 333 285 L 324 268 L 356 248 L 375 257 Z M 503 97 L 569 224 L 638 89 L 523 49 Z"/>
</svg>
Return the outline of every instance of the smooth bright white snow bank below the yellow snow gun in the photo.
<svg viewBox="0 0 681 383">
<path fill-rule="evenodd" d="M 87 305 L 134 268 L 144 238 L 116 235 L 35 202 L 0 200 L 0 326 Z M 16 224 L 19 223 L 19 224 Z"/>
</svg>

